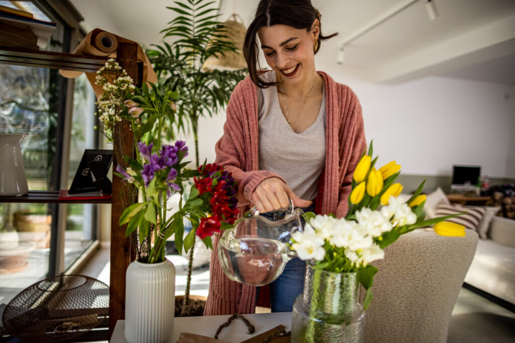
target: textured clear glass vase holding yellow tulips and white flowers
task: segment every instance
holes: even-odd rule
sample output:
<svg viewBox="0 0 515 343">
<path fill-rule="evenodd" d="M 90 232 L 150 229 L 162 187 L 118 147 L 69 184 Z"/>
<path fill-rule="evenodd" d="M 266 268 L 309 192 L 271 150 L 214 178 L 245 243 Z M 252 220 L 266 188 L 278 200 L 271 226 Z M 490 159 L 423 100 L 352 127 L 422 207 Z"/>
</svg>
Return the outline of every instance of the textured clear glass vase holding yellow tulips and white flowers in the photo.
<svg viewBox="0 0 515 343">
<path fill-rule="evenodd" d="M 363 342 L 365 312 L 357 273 L 331 273 L 306 266 L 304 292 L 291 315 L 292 342 Z"/>
</svg>

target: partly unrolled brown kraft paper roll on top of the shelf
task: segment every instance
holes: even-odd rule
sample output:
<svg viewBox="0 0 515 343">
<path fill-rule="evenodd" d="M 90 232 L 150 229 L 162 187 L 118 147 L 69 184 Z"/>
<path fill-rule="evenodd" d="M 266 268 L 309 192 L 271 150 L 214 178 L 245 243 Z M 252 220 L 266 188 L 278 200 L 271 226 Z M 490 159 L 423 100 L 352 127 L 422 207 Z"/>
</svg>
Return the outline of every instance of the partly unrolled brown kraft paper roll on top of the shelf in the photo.
<svg viewBox="0 0 515 343">
<path fill-rule="evenodd" d="M 79 46 L 73 51 L 78 55 L 91 55 L 91 56 L 105 56 L 109 58 L 116 58 L 116 49 L 119 43 L 132 43 L 138 44 L 134 41 L 119 37 L 116 34 L 102 30 L 94 29 L 86 35 L 86 37 L 80 42 Z M 136 57 L 138 62 L 143 63 L 143 82 L 156 82 L 157 76 L 152 68 L 152 65 L 148 61 L 145 52 L 138 44 L 138 56 Z M 59 69 L 59 73 L 65 78 L 76 78 L 80 76 L 82 71 L 62 70 Z M 88 80 L 95 91 L 97 99 L 102 94 L 102 87 L 95 84 L 96 73 L 86 73 Z"/>
</svg>

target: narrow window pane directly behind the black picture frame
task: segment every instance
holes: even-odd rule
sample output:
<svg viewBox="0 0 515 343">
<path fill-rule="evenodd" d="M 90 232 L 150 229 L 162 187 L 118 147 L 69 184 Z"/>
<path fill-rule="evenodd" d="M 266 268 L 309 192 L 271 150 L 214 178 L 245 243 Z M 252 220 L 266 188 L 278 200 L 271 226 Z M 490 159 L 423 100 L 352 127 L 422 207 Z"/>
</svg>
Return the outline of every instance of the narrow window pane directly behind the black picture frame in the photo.
<svg viewBox="0 0 515 343">
<path fill-rule="evenodd" d="M 75 79 L 73 120 L 70 142 L 70 169 L 68 188 L 79 166 L 84 149 L 95 148 L 95 93 L 85 75 Z M 95 206 L 68 204 L 64 233 L 64 268 L 70 267 L 82 252 L 96 239 L 93 228 Z"/>
</svg>

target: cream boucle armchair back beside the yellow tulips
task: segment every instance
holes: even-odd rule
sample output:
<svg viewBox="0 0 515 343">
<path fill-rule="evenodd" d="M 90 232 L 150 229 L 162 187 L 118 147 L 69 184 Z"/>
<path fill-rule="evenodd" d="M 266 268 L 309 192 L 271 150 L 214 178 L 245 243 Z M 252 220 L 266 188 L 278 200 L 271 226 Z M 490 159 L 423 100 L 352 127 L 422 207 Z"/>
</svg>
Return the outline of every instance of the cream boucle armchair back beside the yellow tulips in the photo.
<svg viewBox="0 0 515 343">
<path fill-rule="evenodd" d="M 478 236 L 438 236 L 415 230 L 385 249 L 366 311 L 365 342 L 445 342 Z"/>
</svg>

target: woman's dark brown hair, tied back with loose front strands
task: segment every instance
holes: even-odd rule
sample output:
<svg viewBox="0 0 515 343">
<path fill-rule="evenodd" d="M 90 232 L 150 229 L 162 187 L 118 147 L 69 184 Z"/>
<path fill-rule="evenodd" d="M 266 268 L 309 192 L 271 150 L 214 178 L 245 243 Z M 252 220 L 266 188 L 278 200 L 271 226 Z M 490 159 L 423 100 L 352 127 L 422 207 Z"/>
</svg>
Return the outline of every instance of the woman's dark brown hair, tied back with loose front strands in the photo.
<svg viewBox="0 0 515 343">
<path fill-rule="evenodd" d="M 272 25 L 287 25 L 310 31 L 315 19 L 321 22 L 321 17 L 320 12 L 311 4 L 311 0 L 261 0 L 258 9 L 256 9 L 254 20 L 247 29 L 245 42 L 243 43 L 243 56 L 247 61 L 250 79 L 260 88 L 278 84 L 278 82 L 265 82 L 259 77 L 258 67 L 256 67 L 256 64 L 259 65 L 259 46 L 256 42 L 256 35 L 260 28 Z M 324 36 L 320 28 L 318 47 L 315 53 L 320 50 L 322 40 L 328 40 L 337 34 Z M 261 69 L 261 66 L 259 66 L 259 69 Z"/>
</svg>

